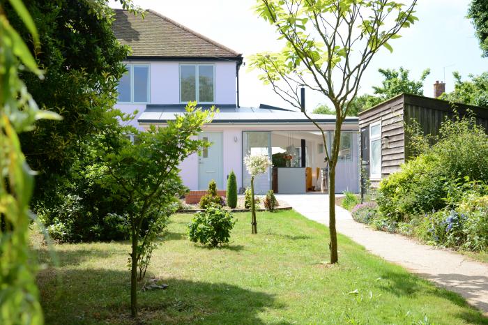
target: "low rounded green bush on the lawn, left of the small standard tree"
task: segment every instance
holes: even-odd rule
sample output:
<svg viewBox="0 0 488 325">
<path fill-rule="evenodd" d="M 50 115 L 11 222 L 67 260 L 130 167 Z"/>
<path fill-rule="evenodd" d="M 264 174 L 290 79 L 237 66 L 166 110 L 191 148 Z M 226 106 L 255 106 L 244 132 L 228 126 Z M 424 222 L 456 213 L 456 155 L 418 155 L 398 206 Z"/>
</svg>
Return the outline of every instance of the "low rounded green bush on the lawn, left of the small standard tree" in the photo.
<svg viewBox="0 0 488 325">
<path fill-rule="evenodd" d="M 231 230 L 236 224 L 234 217 L 222 206 L 208 206 L 205 211 L 195 214 L 192 222 L 188 224 L 188 237 L 190 241 L 217 247 L 229 243 Z"/>
</svg>

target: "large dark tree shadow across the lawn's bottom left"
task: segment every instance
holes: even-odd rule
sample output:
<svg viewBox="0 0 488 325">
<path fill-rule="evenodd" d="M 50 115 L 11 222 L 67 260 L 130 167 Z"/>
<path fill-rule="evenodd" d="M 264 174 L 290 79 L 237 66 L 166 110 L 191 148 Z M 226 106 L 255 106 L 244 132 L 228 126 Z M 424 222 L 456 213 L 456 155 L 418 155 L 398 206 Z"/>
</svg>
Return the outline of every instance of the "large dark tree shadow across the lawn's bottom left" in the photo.
<svg viewBox="0 0 488 325">
<path fill-rule="evenodd" d="M 53 269 L 38 275 L 46 324 L 136 324 L 130 317 L 129 273 Z M 227 283 L 166 278 L 166 290 L 138 292 L 137 324 L 264 324 L 259 312 L 283 308 L 275 298 Z M 286 324 L 286 323 L 282 323 Z"/>
</svg>

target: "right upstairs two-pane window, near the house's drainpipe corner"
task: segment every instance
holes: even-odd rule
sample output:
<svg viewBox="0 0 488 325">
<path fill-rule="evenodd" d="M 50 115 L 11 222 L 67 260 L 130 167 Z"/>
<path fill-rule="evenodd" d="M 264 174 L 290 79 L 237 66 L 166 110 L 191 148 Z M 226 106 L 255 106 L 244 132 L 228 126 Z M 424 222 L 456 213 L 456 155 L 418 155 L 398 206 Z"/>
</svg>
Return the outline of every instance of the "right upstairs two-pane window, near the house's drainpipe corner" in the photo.
<svg viewBox="0 0 488 325">
<path fill-rule="evenodd" d="M 215 65 L 180 64 L 180 101 L 215 102 Z"/>
</svg>

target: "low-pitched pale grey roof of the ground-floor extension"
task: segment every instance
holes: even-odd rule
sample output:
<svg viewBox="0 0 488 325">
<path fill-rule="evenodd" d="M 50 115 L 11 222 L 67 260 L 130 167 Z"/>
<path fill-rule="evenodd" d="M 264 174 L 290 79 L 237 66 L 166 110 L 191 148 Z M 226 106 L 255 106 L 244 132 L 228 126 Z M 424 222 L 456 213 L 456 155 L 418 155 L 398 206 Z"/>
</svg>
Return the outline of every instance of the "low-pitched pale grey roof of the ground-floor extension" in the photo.
<svg viewBox="0 0 488 325">
<path fill-rule="evenodd" d="M 208 109 L 208 105 L 203 106 Z M 212 123 L 311 123 L 302 112 L 236 107 L 236 105 L 215 105 L 219 112 L 215 114 Z M 147 105 L 146 110 L 139 116 L 139 123 L 166 123 L 175 119 L 177 114 L 185 112 L 185 105 Z M 334 115 L 309 114 L 318 123 L 335 123 Z M 345 123 L 358 123 L 356 116 L 346 117 Z"/>
</svg>

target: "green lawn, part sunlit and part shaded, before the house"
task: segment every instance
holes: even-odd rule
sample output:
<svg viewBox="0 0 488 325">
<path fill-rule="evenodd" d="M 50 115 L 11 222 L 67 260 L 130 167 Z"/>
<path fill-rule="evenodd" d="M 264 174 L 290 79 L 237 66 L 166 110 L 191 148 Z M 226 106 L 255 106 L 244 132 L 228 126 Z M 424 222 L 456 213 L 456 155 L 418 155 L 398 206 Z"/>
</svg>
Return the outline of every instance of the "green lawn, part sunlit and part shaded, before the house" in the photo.
<svg viewBox="0 0 488 325">
<path fill-rule="evenodd" d="M 169 287 L 139 292 L 140 323 L 488 324 L 457 294 L 344 236 L 340 264 L 321 264 L 329 258 L 327 228 L 294 211 L 259 213 L 257 235 L 249 213 L 236 217 L 231 244 L 213 250 L 186 238 L 191 215 L 171 217 L 147 275 Z M 40 262 L 51 263 L 47 249 L 35 246 Z M 46 324 L 132 324 L 128 243 L 54 250 L 59 266 L 38 276 Z"/>
</svg>

